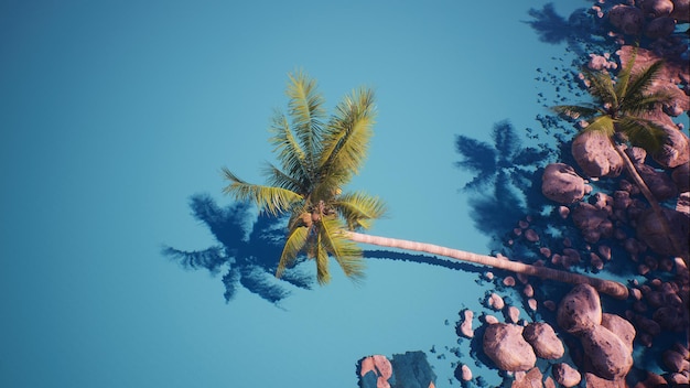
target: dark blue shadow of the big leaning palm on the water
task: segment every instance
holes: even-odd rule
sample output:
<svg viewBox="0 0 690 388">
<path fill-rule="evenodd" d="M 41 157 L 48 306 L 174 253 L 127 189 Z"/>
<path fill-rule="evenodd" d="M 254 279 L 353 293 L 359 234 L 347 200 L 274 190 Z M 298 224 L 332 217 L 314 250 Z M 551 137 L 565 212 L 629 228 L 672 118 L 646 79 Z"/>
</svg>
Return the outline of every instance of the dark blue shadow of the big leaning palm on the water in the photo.
<svg viewBox="0 0 690 388">
<path fill-rule="evenodd" d="M 285 238 L 285 222 L 265 213 L 256 215 L 247 203 L 220 207 L 207 194 L 190 198 L 192 216 L 202 222 L 218 245 L 202 250 L 181 250 L 163 246 L 162 255 L 186 270 L 206 269 L 213 276 L 225 271 L 225 300 L 230 302 L 239 287 L 280 306 L 291 289 L 311 290 L 314 273 L 304 270 L 300 259 L 288 268 L 280 279 L 274 273 Z M 252 222 L 254 219 L 254 222 Z M 388 259 L 444 267 L 453 270 L 478 272 L 481 268 L 460 261 L 449 261 L 433 256 L 411 255 L 391 250 L 364 250 L 365 259 Z"/>
</svg>

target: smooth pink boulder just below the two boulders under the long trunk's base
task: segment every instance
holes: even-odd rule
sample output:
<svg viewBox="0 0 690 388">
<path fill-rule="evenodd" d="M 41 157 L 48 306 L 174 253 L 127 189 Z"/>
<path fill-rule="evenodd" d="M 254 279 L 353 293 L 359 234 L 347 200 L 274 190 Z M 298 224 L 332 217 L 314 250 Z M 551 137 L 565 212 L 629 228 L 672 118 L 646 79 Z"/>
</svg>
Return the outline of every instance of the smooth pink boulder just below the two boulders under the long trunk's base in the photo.
<svg viewBox="0 0 690 388">
<path fill-rule="evenodd" d="M 608 328 L 596 325 L 580 341 L 595 375 L 608 380 L 622 379 L 633 367 L 633 351 Z"/>
</svg>

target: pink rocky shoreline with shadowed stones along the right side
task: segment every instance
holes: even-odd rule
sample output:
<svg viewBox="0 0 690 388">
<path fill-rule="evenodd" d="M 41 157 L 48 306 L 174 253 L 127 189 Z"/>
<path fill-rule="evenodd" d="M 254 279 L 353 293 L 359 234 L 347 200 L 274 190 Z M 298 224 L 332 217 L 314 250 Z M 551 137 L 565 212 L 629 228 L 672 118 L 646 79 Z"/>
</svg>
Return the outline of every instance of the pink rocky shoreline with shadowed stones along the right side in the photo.
<svg viewBox="0 0 690 388">
<path fill-rule="evenodd" d="M 600 0 L 590 14 L 611 29 L 607 35 L 618 46 L 613 55 L 590 53 L 591 71 L 615 74 L 634 58 L 635 73 L 665 61 L 653 88 L 672 94 L 673 99 L 649 118 L 664 126 L 667 140 L 651 155 L 638 148 L 625 152 L 656 200 L 667 205 L 664 213 L 675 237 L 667 236 L 651 215 L 611 142 L 596 132 L 581 132 L 570 147 L 574 163 L 551 163 L 541 175 L 541 192 L 554 204 L 553 212 L 579 235 L 554 244 L 545 238 L 539 216 L 527 216 L 506 239 L 507 254 L 521 244 L 538 252 L 527 263 L 601 274 L 608 270 L 627 280 L 630 297 L 607 303 L 592 287 L 580 284 L 558 298 L 533 279 L 485 272 L 482 281 L 493 282 L 496 289 L 486 295 L 484 306 L 498 316 L 464 309 L 456 331 L 461 341 L 481 346 L 489 367 L 502 370 L 504 386 L 687 387 L 690 140 L 671 117 L 688 115 L 690 109 L 688 36 L 677 34 L 678 24 L 690 22 L 690 4 L 687 0 L 615 4 Z M 634 41 L 639 41 L 639 47 L 634 48 Z M 669 244 L 669 237 L 679 246 Z M 513 291 L 522 299 L 518 303 L 504 298 Z M 516 305 L 529 316 L 521 317 Z M 654 358 L 656 368 L 638 365 L 639 354 Z M 374 357 L 359 362 L 360 387 L 408 386 L 395 382 L 392 368 L 369 367 L 375 359 L 385 364 L 385 356 Z M 390 374 L 364 382 L 367 373 L 379 369 Z M 485 386 L 464 360 L 456 364 L 455 378 L 466 387 Z M 433 386 L 433 380 L 416 385 Z"/>
</svg>

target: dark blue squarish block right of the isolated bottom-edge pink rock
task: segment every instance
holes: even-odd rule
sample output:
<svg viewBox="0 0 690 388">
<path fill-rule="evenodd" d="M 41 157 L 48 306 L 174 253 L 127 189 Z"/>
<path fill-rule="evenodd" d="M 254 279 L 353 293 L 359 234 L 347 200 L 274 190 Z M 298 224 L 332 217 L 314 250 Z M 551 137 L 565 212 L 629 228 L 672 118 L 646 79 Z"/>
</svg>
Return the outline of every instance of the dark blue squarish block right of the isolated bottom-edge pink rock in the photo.
<svg viewBox="0 0 690 388">
<path fill-rule="evenodd" d="M 396 388 L 427 388 L 435 385 L 436 375 L 424 352 L 393 354 L 390 364 Z"/>
</svg>

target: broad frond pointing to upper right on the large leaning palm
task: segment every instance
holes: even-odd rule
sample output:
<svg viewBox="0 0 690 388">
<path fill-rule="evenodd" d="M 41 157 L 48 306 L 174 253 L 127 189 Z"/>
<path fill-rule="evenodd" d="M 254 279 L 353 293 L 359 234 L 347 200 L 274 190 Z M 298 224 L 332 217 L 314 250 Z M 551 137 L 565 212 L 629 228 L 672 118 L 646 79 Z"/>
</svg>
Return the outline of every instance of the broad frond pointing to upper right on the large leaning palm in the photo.
<svg viewBox="0 0 690 388">
<path fill-rule="evenodd" d="M 320 170 L 357 174 L 366 159 L 375 118 L 373 90 L 362 88 L 345 97 L 326 127 Z"/>
</svg>

